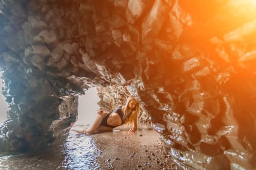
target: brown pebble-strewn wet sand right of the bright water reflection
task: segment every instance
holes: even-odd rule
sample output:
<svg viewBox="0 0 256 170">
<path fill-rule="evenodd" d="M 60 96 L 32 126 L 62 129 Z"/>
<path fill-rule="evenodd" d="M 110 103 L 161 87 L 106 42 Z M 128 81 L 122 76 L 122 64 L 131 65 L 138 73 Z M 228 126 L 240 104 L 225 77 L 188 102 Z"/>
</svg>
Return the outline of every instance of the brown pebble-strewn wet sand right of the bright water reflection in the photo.
<svg viewBox="0 0 256 170">
<path fill-rule="evenodd" d="M 181 170 L 171 156 L 164 152 L 157 132 L 152 128 L 96 134 L 94 136 L 101 162 L 117 170 Z"/>
</svg>

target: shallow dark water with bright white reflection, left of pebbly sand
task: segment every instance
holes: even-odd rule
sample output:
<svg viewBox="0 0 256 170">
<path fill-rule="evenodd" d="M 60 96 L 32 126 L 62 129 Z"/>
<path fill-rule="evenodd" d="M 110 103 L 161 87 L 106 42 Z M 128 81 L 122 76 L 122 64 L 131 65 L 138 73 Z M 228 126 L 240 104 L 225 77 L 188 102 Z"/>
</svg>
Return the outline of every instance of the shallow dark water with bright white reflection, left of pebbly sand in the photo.
<svg viewBox="0 0 256 170">
<path fill-rule="evenodd" d="M 44 151 L 0 153 L 0 170 L 91 170 L 102 168 L 93 135 L 70 131 Z M 103 165 L 104 167 L 104 165 Z"/>
</svg>

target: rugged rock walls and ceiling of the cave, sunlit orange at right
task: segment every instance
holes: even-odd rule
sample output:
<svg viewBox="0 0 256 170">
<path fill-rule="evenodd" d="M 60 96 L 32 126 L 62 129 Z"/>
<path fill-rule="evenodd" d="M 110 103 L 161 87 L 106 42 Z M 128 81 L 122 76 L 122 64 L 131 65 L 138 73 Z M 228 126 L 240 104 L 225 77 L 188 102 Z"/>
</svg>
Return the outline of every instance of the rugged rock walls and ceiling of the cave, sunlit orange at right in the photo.
<svg viewBox="0 0 256 170">
<path fill-rule="evenodd" d="M 174 159 L 255 169 L 255 0 L 1 0 L 0 152 L 47 147 L 99 90 L 130 94 Z M 50 130 L 49 130 L 50 128 Z"/>
</svg>

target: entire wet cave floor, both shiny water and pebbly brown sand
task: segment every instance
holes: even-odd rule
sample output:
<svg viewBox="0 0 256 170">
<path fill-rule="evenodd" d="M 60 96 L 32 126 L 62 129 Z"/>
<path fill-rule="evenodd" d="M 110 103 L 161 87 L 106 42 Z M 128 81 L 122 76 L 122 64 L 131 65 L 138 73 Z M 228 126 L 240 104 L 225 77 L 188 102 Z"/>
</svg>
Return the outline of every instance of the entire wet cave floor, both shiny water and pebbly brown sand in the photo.
<svg viewBox="0 0 256 170">
<path fill-rule="evenodd" d="M 44 151 L 1 153 L 0 169 L 181 170 L 150 126 L 140 124 L 136 133 L 127 132 L 124 127 L 93 135 L 70 131 Z"/>
</svg>

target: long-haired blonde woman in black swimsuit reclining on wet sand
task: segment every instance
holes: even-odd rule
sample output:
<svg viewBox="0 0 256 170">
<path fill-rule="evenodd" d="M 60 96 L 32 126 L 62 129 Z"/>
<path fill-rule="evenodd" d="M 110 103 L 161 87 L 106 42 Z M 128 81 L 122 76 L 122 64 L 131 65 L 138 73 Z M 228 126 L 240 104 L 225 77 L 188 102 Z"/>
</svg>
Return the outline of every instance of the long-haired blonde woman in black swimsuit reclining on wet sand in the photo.
<svg viewBox="0 0 256 170">
<path fill-rule="evenodd" d="M 97 130 L 112 130 L 122 124 L 133 123 L 133 127 L 128 131 L 129 134 L 137 130 L 137 116 L 139 113 L 139 102 L 130 96 L 125 105 L 119 105 L 113 112 L 106 112 L 98 109 L 97 118 L 87 127 L 72 127 L 70 130 L 79 133 L 94 133 Z"/>
</svg>

